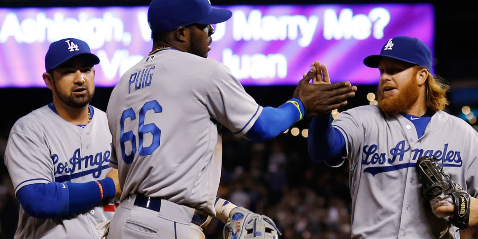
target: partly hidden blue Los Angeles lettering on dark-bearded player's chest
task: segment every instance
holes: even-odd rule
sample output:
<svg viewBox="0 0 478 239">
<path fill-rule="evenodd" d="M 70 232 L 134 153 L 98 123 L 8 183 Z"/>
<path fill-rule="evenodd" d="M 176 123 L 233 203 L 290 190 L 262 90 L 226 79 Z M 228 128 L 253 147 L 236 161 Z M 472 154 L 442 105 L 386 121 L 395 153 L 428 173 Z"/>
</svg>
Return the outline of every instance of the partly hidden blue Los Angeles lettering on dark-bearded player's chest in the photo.
<svg viewBox="0 0 478 239">
<path fill-rule="evenodd" d="M 81 157 L 81 152 L 78 148 L 73 152 L 73 156 L 69 160 L 62 160 L 62 162 L 60 162 L 60 157 L 55 153 L 52 155 L 54 176 L 55 179 L 60 178 L 60 180 L 56 180 L 56 182 L 69 181 L 68 179 L 71 180 L 71 178 L 85 176 L 86 174 L 92 174 L 93 178 L 99 178 L 101 171 L 109 168 L 108 163 L 110 156 L 111 152 L 107 150 L 105 152 L 98 152 L 95 155 L 90 154 Z M 75 173 L 76 171 L 80 172 Z M 76 174 L 78 174 L 78 176 Z"/>
</svg>

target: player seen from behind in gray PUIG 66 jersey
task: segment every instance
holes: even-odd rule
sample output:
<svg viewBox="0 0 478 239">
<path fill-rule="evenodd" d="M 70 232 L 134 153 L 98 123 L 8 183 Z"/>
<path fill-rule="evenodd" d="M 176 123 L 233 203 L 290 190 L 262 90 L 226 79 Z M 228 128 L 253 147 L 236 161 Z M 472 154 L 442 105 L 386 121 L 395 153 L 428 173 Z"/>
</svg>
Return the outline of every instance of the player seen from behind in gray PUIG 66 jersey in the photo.
<svg viewBox="0 0 478 239">
<path fill-rule="evenodd" d="M 107 108 L 109 165 L 118 168 L 123 190 L 109 239 L 204 238 L 207 218 L 216 215 L 222 127 L 264 141 L 354 96 L 349 82 L 310 84 L 312 65 L 291 100 L 258 105 L 226 66 L 206 59 L 211 24 L 231 15 L 208 0 L 150 3 L 153 49 L 121 77 Z"/>
</svg>

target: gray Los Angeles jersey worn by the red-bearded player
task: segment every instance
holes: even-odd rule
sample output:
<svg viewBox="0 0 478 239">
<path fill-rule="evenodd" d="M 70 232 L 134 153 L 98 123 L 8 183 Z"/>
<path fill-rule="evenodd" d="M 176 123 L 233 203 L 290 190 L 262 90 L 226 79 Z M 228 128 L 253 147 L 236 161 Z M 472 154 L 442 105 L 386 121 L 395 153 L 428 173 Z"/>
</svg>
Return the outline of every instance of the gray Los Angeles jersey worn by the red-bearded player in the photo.
<svg viewBox="0 0 478 239">
<path fill-rule="evenodd" d="M 421 156 L 436 156 L 452 180 L 477 196 L 478 137 L 464 120 L 438 111 L 418 138 L 411 120 L 362 106 L 341 112 L 333 127 L 346 139 L 354 239 L 438 238 L 446 223 L 422 196 L 415 168 Z M 459 232 L 451 228 L 444 238 Z"/>
</svg>

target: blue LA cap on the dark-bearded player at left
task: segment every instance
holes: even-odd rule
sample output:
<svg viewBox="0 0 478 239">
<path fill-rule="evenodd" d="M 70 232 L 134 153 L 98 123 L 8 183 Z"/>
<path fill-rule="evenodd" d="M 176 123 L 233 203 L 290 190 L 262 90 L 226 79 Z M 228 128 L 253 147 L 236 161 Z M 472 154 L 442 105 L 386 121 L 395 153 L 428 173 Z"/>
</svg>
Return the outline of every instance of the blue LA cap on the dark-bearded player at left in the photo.
<svg viewBox="0 0 478 239">
<path fill-rule="evenodd" d="M 98 56 L 91 53 L 86 42 L 76 38 L 65 38 L 50 44 L 45 55 L 46 72 L 77 55 L 84 55 L 92 65 L 99 63 Z"/>
</svg>

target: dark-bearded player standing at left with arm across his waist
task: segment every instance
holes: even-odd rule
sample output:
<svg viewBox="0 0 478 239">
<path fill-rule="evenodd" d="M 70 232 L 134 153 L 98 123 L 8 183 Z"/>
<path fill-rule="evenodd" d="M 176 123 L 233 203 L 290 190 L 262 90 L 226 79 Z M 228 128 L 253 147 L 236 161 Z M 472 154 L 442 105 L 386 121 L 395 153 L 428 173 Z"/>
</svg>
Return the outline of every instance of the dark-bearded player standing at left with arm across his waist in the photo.
<svg viewBox="0 0 478 239">
<path fill-rule="evenodd" d="M 118 171 L 109 167 L 106 113 L 90 106 L 99 63 L 87 43 L 51 43 L 43 80 L 53 102 L 13 125 L 5 152 L 20 216 L 18 239 L 94 239 L 95 226 L 113 217 L 120 195 Z"/>
</svg>

